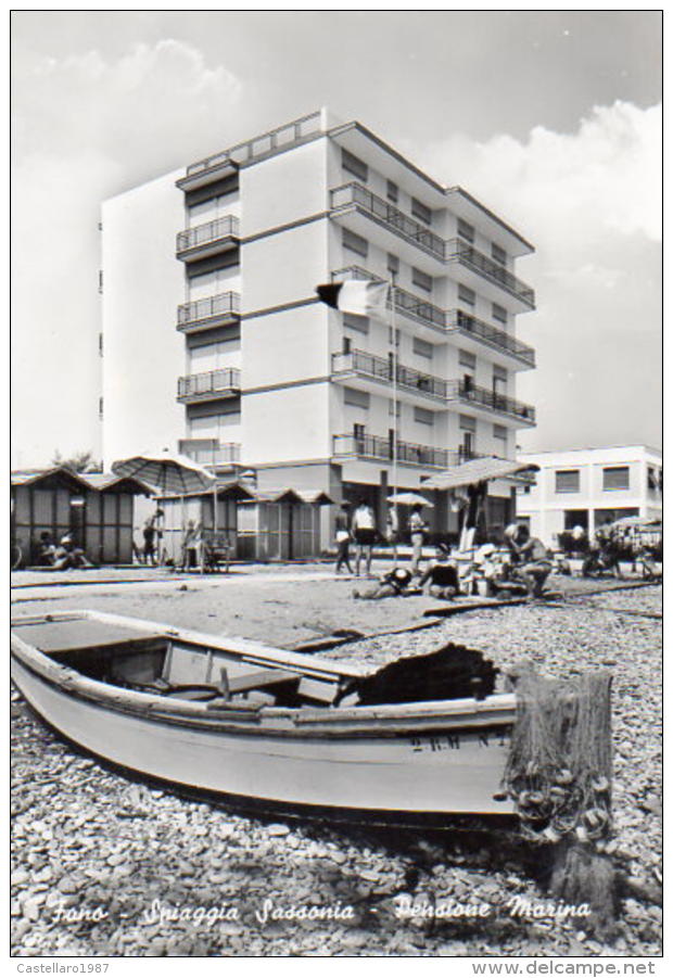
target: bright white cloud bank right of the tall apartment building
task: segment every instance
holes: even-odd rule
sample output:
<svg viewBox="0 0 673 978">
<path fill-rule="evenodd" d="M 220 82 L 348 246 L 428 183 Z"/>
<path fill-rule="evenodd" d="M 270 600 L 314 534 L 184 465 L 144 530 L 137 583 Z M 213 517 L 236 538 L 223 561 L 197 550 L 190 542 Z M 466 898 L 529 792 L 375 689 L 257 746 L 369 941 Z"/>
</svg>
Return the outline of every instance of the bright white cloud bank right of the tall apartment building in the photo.
<svg viewBox="0 0 673 978">
<path fill-rule="evenodd" d="M 537 295 L 518 320 L 537 351 L 517 388 L 538 407 L 526 448 L 660 442 L 661 119 L 614 102 L 574 132 L 459 135 L 421 154 L 535 244 L 517 268 Z"/>
</svg>

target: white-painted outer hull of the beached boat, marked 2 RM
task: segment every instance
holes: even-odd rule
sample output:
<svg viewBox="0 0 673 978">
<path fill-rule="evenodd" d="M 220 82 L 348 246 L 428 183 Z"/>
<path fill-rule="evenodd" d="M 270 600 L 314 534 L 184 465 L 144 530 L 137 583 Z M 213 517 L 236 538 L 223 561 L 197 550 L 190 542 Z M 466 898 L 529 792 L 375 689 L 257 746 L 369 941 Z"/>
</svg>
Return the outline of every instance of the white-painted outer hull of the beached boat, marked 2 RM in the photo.
<svg viewBox="0 0 673 978">
<path fill-rule="evenodd" d="M 278 656 L 287 658 L 281 650 Z M 189 790 L 372 816 L 513 812 L 501 790 L 511 697 L 209 711 L 88 679 L 15 636 L 12 678 L 64 737 L 115 765 Z"/>
</svg>

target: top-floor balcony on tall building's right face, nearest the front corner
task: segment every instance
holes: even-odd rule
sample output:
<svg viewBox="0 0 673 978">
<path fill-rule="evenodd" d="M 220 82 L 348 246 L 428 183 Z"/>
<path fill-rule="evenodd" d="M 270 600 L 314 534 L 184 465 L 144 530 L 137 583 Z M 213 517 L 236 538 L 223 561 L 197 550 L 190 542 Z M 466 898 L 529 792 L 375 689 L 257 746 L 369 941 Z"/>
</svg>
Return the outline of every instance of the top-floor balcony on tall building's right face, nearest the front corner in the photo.
<svg viewBox="0 0 673 978">
<path fill-rule="evenodd" d="M 420 253 L 432 259 L 429 265 L 430 274 L 436 275 L 436 262 L 444 262 L 444 241 L 437 234 L 426 225 L 414 220 L 412 217 L 407 217 L 389 201 L 377 196 L 361 183 L 353 181 L 331 190 L 330 207 L 333 218 L 353 213 L 364 216 L 365 224 L 354 227 L 354 230 L 363 232 L 366 238 L 373 240 L 380 247 L 390 249 L 390 243 L 386 241 L 385 234 L 380 240 L 376 240 L 376 236 L 371 233 L 370 221 L 373 220 L 384 231 L 392 231 L 393 234 L 411 245 L 411 251 L 405 256 L 410 264 L 419 265 L 419 267 L 423 264 L 422 261 L 419 261 Z"/>
</svg>

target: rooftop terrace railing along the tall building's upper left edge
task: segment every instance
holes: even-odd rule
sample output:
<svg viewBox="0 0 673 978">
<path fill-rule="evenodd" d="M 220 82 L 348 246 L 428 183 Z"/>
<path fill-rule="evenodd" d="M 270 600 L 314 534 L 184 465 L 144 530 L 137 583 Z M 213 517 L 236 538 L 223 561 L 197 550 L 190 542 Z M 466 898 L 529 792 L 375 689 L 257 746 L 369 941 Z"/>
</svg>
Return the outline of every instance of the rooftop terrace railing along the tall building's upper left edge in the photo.
<svg viewBox="0 0 673 978">
<path fill-rule="evenodd" d="M 240 166 L 246 163 L 257 162 L 266 156 L 272 156 L 276 153 L 282 153 L 283 150 L 292 149 L 301 145 L 309 139 L 315 139 L 321 134 L 321 118 L 319 112 L 313 112 L 310 115 L 302 116 L 277 129 L 257 136 L 255 139 L 249 139 L 240 142 L 229 150 L 221 153 L 215 153 L 213 156 L 206 156 L 198 163 L 192 163 L 187 167 L 187 174 L 176 183 L 181 190 L 195 190 L 207 183 L 223 179 L 230 173 L 234 173 Z"/>
</svg>

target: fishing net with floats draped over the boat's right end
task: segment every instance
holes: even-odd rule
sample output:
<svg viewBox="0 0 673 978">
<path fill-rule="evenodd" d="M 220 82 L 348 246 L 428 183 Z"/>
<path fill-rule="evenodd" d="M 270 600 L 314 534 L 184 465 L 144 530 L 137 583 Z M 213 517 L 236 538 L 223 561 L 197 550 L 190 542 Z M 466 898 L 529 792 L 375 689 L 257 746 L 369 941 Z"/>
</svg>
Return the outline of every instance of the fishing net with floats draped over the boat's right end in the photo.
<svg viewBox="0 0 673 978">
<path fill-rule="evenodd" d="M 518 678 L 505 784 L 524 834 L 604 848 L 610 829 L 610 683 L 606 673 Z"/>
</svg>

